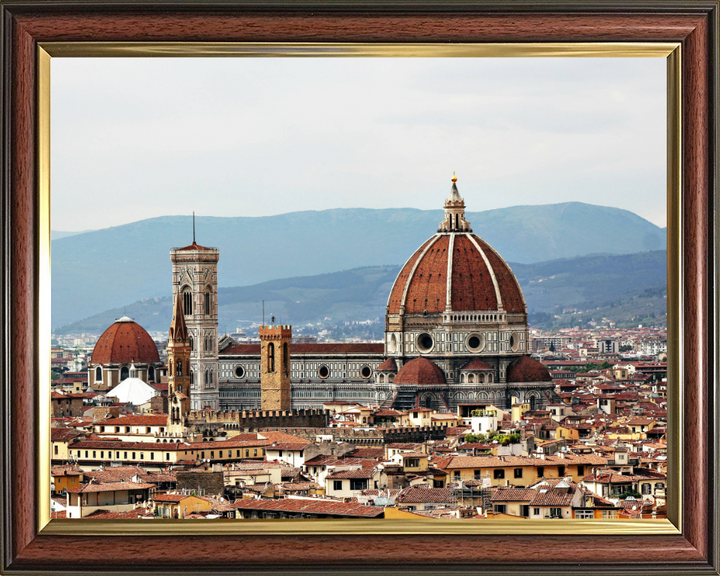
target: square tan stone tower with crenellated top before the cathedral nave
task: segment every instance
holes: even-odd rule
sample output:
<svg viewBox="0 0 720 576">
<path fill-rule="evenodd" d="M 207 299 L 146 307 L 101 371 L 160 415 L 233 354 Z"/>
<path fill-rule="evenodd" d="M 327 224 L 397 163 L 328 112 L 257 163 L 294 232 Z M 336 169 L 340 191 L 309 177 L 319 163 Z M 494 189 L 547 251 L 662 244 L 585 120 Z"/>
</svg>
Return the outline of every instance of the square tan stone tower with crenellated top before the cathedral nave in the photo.
<svg viewBox="0 0 720 576">
<path fill-rule="evenodd" d="M 290 410 L 292 326 L 260 326 L 260 390 L 263 410 Z"/>
</svg>

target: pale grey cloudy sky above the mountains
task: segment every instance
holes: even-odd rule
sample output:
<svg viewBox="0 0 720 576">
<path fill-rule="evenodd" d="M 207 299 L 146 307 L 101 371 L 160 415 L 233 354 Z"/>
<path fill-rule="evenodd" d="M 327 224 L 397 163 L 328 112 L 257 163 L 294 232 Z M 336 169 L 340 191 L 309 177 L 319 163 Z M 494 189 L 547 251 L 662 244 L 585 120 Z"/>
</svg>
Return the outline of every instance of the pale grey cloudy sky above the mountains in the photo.
<svg viewBox="0 0 720 576">
<path fill-rule="evenodd" d="M 666 225 L 662 58 L 54 58 L 52 228 L 580 200 Z"/>
</svg>

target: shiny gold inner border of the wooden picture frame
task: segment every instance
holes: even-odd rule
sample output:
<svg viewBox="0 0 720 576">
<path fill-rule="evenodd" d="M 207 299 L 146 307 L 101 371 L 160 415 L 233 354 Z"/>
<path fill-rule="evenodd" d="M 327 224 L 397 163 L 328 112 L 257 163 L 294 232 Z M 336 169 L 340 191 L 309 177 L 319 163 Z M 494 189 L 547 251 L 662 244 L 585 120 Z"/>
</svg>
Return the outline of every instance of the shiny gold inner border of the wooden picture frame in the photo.
<svg viewBox="0 0 720 576">
<path fill-rule="evenodd" d="M 396 57 L 396 58 L 666 58 L 667 60 L 667 215 L 668 215 L 668 475 L 664 520 L 95 520 L 50 519 L 50 88 L 52 58 L 118 57 Z M 37 528 L 48 535 L 360 535 L 360 534 L 494 534 L 494 535 L 670 535 L 682 532 L 683 357 L 680 349 L 682 309 L 682 153 L 681 45 L 677 42 L 577 42 L 495 44 L 374 43 L 232 43 L 232 42 L 40 42 L 38 72 L 38 208 L 39 290 L 37 349 L 38 430 L 36 458 L 40 503 Z"/>
</svg>

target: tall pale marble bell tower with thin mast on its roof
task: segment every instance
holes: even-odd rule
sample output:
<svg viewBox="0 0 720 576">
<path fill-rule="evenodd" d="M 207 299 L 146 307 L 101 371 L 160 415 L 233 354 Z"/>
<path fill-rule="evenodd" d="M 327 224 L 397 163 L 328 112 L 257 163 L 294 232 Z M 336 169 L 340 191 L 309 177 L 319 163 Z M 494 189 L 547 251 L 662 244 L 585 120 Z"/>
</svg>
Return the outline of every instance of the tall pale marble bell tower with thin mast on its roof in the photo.
<svg viewBox="0 0 720 576">
<path fill-rule="evenodd" d="M 193 220 L 193 232 L 194 232 Z M 194 233 L 193 233 L 194 236 Z M 173 298 L 180 298 L 190 340 L 190 403 L 193 409 L 220 408 L 218 386 L 217 248 L 193 243 L 173 248 Z"/>
</svg>

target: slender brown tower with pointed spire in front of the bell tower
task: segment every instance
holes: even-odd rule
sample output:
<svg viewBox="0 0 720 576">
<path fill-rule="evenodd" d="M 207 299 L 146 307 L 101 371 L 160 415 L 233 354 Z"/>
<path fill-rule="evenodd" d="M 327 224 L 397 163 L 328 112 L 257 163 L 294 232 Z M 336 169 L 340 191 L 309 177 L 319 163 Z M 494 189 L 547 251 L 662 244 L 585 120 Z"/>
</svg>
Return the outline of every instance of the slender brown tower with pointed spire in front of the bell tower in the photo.
<svg viewBox="0 0 720 576">
<path fill-rule="evenodd" d="M 190 335 L 185 325 L 180 297 L 175 297 L 168 334 L 168 432 L 184 436 L 185 417 L 190 412 Z"/>
</svg>

